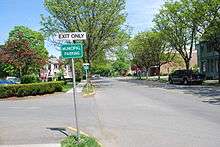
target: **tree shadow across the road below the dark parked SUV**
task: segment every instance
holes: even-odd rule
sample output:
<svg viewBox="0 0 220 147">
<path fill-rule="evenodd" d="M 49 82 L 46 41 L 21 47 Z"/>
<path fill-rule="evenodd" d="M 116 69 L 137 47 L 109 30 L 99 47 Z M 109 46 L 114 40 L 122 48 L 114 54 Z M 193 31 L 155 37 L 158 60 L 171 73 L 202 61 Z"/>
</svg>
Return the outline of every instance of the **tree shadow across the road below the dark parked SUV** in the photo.
<svg viewBox="0 0 220 147">
<path fill-rule="evenodd" d="M 220 87 L 205 85 L 175 85 L 168 83 L 160 83 L 158 81 L 136 80 L 136 79 L 119 79 L 122 82 L 130 82 L 138 85 L 147 85 L 152 88 L 163 88 L 167 90 L 179 90 L 185 94 L 193 94 L 201 98 L 209 98 L 202 102 L 220 105 Z"/>
</svg>

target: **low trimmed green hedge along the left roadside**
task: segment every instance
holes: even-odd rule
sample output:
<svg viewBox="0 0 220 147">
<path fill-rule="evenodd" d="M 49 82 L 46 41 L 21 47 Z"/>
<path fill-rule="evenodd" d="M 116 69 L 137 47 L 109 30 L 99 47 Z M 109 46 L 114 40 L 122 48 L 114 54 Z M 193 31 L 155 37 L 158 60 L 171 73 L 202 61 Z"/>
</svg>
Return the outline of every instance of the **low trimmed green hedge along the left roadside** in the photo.
<svg viewBox="0 0 220 147">
<path fill-rule="evenodd" d="M 0 98 L 23 97 L 61 92 L 64 82 L 42 82 L 32 84 L 0 85 Z"/>
</svg>

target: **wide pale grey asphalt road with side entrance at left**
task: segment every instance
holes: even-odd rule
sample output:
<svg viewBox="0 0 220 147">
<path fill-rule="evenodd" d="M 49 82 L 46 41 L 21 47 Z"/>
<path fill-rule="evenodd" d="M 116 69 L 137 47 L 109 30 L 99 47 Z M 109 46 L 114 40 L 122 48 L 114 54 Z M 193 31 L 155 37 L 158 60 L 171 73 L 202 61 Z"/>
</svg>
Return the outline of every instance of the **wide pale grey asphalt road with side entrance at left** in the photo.
<svg viewBox="0 0 220 147">
<path fill-rule="evenodd" d="M 219 147 L 220 89 L 136 80 L 95 81 L 78 95 L 80 128 L 105 147 Z M 71 94 L 0 101 L 0 145 L 58 143 L 74 125 Z"/>
</svg>

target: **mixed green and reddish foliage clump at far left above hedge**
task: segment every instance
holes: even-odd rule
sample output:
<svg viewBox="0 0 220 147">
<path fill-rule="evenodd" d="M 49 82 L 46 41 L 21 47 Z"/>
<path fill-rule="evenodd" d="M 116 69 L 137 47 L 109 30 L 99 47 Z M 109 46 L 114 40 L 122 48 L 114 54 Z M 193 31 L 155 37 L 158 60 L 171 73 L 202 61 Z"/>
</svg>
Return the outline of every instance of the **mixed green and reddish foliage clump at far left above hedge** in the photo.
<svg viewBox="0 0 220 147">
<path fill-rule="evenodd" d="M 0 50 L 0 61 L 6 66 L 4 71 L 9 75 L 19 73 L 19 76 L 36 73 L 48 59 L 44 47 L 44 37 L 24 26 L 16 26 L 9 39 Z"/>
</svg>

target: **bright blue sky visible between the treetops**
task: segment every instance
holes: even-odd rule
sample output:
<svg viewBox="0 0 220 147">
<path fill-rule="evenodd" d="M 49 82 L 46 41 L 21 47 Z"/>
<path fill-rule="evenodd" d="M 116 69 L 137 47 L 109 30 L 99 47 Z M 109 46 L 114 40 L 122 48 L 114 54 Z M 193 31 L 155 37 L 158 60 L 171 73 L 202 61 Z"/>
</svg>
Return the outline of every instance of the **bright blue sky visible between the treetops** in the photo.
<svg viewBox="0 0 220 147">
<path fill-rule="evenodd" d="M 158 12 L 163 0 L 127 0 L 127 23 L 132 33 L 147 31 L 152 26 L 152 19 Z M 0 44 L 8 38 L 8 33 L 16 25 L 24 25 L 35 31 L 40 26 L 40 15 L 48 15 L 43 0 L 0 0 Z M 59 52 L 46 44 L 50 54 L 59 56 Z"/>
</svg>

